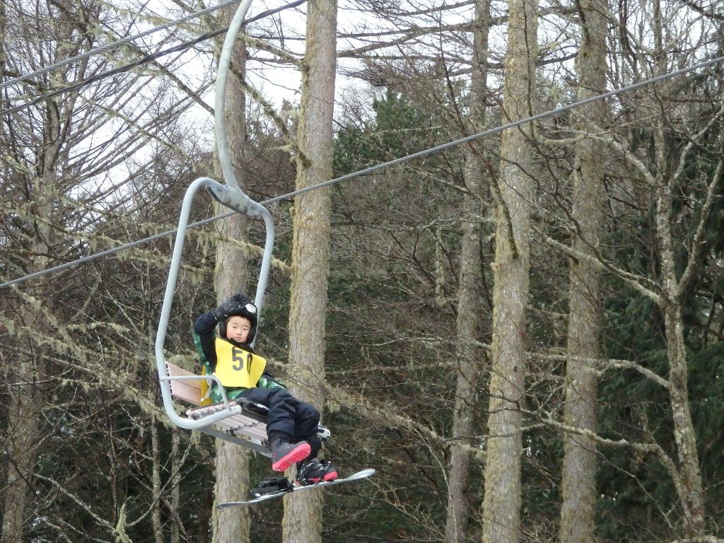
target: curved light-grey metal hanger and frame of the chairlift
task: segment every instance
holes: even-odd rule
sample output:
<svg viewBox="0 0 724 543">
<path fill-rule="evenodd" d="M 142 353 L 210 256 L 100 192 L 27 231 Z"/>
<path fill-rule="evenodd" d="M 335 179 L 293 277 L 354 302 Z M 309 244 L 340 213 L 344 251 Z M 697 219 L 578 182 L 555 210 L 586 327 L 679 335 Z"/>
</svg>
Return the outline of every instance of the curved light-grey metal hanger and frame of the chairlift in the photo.
<svg viewBox="0 0 724 543">
<path fill-rule="evenodd" d="M 222 54 L 219 57 L 219 72 L 216 76 L 216 98 L 214 111 L 216 147 L 217 152 L 219 153 L 219 162 L 222 166 L 224 180 L 227 184 L 222 185 L 209 177 L 199 177 L 197 180 L 192 182 L 188 190 L 186 190 L 179 216 L 176 240 L 174 241 L 174 251 L 169 267 L 169 277 L 166 283 L 164 304 L 161 307 L 161 316 L 159 317 L 159 329 L 156 334 L 156 367 L 159 372 L 159 383 L 161 385 L 161 397 L 164 401 L 164 409 L 169 419 L 173 422 L 173 424 L 179 426 L 180 428 L 203 430 L 209 434 L 215 435 L 216 437 L 222 437 L 223 439 L 228 439 L 229 441 L 245 446 L 248 446 L 248 444 L 243 439 L 238 439 L 228 434 L 223 434 L 217 430 L 209 429 L 209 426 L 212 424 L 222 421 L 224 418 L 240 414 L 242 411 L 242 408 L 239 405 L 232 406 L 229 404 L 224 387 L 222 387 L 221 382 L 219 382 L 219 379 L 216 376 L 196 376 L 195 379 L 206 379 L 206 381 L 209 382 L 209 386 L 211 386 L 214 382 L 218 384 L 219 390 L 222 392 L 226 409 L 220 411 L 219 413 L 213 413 L 198 419 L 183 417 L 176 412 L 173 405 L 170 382 L 174 379 L 185 379 L 185 377 L 169 376 L 166 366 L 166 357 L 164 354 L 164 342 L 166 340 L 169 316 L 171 314 L 174 292 L 176 290 L 178 271 L 181 266 L 181 256 L 186 237 L 186 229 L 188 227 L 188 218 L 191 212 L 191 203 L 193 202 L 195 193 L 202 187 L 206 188 L 209 194 L 211 194 L 216 201 L 219 201 L 219 203 L 222 203 L 224 206 L 248 216 L 261 216 L 264 220 L 266 242 L 264 243 L 264 256 L 261 259 L 261 270 L 259 271 L 256 296 L 254 298 L 254 303 L 257 308 L 257 319 L 261 318 L 261 309 L 264 305 L 264 291 L 266 290 L 266 282 L 269 278 L 269 268 L 271 266 L 271 251 L 274 248 L 274 223 L 271 220 L 269 210 L 260 203 L 252 201 L 248 195 L 243 193 L 237 184 L 227 141 L 225 122 L 226 109 L 224 105 L 226 82 L 227 75 L 229 73 L 232 49 L 250 5 L 251 0 L 244 0 L 238 7 L 237 12 L 232 19 L 226 38 L 224 39 Z"/>
</svg>

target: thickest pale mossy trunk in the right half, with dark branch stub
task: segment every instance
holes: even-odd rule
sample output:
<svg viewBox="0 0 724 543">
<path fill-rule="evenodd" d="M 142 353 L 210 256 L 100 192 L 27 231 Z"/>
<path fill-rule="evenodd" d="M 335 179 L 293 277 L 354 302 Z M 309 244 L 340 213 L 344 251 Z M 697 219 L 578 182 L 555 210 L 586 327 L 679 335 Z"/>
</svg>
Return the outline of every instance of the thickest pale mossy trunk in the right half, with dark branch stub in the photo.
<svg viewBox="0 0 724 543">
<path fill-rule="evenodd" d="M 509 4 L 503 121 L 529 117 L 536 83 L 537 2 Z M 500 143 L 487 463 L 482 539 L 515 543 L 521 526 L 522 416 L 529 292 L 531 125 L 506 130 Z"/>
</svg>

